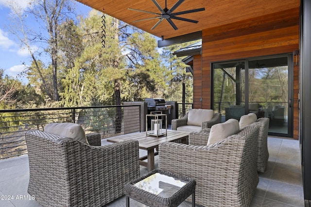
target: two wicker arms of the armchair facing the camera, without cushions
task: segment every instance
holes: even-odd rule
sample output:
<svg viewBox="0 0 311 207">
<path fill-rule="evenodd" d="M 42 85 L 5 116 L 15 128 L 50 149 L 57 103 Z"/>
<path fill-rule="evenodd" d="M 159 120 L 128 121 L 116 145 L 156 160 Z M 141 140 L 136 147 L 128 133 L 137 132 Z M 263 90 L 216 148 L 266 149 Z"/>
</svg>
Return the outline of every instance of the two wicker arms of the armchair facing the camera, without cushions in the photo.
<svg viewBox="0 0 311 207">
<path fill-rule="evenodd" d="M 222 114 L 221 113 L 214 113 L 213 118 L 210 121 L 202 122 L 201 131 L 205 128 L 210 128 L 215 124 L 221 123 L 222 121 Z M 180 119 L 173 119 L 172 120 L 172 130 L 177 130 L 178 127 L 186 126 L 188 122 L 188 113 Z"/>
</svg>

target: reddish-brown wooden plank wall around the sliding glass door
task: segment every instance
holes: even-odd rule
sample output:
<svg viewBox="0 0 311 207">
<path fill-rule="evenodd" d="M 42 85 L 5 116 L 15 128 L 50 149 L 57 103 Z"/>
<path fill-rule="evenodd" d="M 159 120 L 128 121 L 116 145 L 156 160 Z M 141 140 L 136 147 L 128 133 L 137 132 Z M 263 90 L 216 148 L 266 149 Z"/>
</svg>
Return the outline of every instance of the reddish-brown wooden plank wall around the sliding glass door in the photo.
<svg viewBox="0 0 311 207">
<path fill-rule="evenodd" d="M 194 64 L 194 107 L 210 109 L 212 62 L 291 53 L 299 48 L 299 8 L 271 16 L 221 25 L 202 31 L 201 64 Z M 195 57 L 194 63 L 201 57 Z M 200 67 L 199 67 L 200 66 Z M 298 66 L 294 67 L 294 107 L 298 93 Z M 202 86 L 201 88 L 199 86 Z M 199 103 L 201 100 L 202 103 Z M 294 138 L 298 138 L 298 111 L 294 110 Z"/>
</svg>

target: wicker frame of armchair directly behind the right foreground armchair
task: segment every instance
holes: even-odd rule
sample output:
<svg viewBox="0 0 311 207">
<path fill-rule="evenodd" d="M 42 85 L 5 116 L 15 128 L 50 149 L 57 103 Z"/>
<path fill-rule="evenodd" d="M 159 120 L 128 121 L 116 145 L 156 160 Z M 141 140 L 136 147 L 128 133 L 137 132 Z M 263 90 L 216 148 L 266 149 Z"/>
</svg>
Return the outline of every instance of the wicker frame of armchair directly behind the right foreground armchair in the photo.
<svg viewBox="0 0 311 207">
<path fill-rule="evenodd" d="M 259 126 L 259 136 L 257 138 L 257 171 L 263 173 L 266 169 L 269 152 L 268 152 L 268 129 L 269 118 L 259 118 L 254 124 Z M 202 132 L 191 132 L 188 142 L 191 145 L 206 145 L 210 128 L 204 129 Z"/>
</svg>

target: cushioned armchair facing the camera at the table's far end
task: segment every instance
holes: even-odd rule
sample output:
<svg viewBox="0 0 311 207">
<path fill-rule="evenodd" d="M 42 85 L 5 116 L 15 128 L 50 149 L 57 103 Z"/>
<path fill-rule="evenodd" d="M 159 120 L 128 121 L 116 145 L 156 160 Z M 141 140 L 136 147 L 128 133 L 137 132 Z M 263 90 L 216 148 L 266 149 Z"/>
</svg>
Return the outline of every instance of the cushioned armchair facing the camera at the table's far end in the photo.
<svg viewBox="0 0 311 207">
<path fill-rule="evenodd" d="M 200 132 L 204 128 L 210 128 L 215 124 L 221 123 L 222 114 L 214 113 L 214 111 L 212 111 L 213 115 L 210 117 L 208 121 L 200 121 L 200 120 L 204 120 L 203 116 L 205 116 L 205 113 L 208 114 L 209 111 L 212 111 L 212 110 L 190 109 L 190 111 L 186 113 L 186 115 L 183 116 L 182 118 L 172 120 L 172 129 L 180 130 L 180 131 L 188 131 L 188 132 L 192 132 L 192 131 Z M 190 116 L 192 120 L 190 120 Z"/>
</svg>

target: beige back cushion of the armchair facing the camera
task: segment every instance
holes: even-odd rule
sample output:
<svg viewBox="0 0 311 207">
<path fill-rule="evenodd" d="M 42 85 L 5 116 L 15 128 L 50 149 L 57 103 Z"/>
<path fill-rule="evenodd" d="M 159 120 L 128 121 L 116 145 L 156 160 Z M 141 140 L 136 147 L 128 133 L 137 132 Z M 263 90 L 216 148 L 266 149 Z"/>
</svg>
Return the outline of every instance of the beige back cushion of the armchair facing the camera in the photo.
<svg viewBox="0 0 311 207">
<path fill-rule="evenodd" d="M 190 109 L 188 113 L 187 125 L 202 126 L 202 122 L 210 121 L 214 116 L 211 109 Z"/>
</svg>

